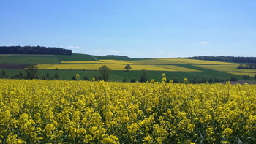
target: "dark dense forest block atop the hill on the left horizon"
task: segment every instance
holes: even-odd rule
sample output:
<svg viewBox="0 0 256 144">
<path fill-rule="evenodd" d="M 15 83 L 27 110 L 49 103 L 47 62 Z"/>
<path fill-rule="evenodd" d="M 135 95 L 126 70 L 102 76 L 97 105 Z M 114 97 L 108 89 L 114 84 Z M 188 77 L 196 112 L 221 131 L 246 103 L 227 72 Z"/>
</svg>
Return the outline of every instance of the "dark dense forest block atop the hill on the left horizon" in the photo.
<svg viewBox="0 0 256 144">
<path fill-rule="evenodd" d="M 71 55 L 72 50 L 42 46 L 0 46 L 0 54 Z"/>
</svg>

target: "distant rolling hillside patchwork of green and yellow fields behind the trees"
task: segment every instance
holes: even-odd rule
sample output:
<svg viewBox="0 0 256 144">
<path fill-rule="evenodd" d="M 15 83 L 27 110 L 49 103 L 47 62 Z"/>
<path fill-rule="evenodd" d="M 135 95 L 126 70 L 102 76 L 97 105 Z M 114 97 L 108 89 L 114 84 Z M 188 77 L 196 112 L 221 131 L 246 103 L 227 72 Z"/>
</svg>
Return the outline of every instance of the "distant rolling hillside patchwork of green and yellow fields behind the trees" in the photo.
<svg viewBox="0 0 256 144">
<path fill-rule="evenodd" d="M 53 76 L 56 72 L 63 80 L 70 80 L 75 74 L 84 76 L 91 80 L 94 76 L 99 76 L 97 69 L 102 65 L 107 65 L 112 69 L 111 81 L 122 81 L 127 79 L 140 79 L 140 70 L 148 71 L 149 79 L 162 80 L 162 73 L 168 79 L 184 77 L 192 80 L 194 77 L 199 80 L 204 77 L 206 80 L 219 78 L 222 80 L 236 77 L 242 80 L 242 75 L 249 75 L 250 80 L 256 75 L 254 69 L 236 69 L 236 63 L 219 61 L 201 61 L 184 58 L 156 58 L 156 59 L 136 59 L 136 58 L 114 58 L 109 56 L 91 56 L 86 54 L 72 54 L 72 56 L 60 55 L 0 55 L 1 64 L 38 64 L 38 76 L 41 78 L 48 72 Z M 124 69 L 126 64 L 130 64 L 132 69 L 127 72 Z M 58 68 L 58 70 L 56 70 Z M 85 70 L 83 70 L 85 69 Z M 23 69 L 4 69 L 9 77 L 13 77 Z"/>
</svg>

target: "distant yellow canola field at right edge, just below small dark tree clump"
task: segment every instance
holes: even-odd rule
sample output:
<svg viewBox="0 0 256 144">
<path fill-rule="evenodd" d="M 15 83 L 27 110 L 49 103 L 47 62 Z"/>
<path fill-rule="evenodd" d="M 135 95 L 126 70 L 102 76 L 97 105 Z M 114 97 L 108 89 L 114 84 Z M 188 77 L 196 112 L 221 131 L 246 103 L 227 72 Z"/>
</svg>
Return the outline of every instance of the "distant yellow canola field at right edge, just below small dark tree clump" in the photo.
<svg viewBox="0 0 256 144">
<path fill-rule="evenodd" d="M 238 64 L 222 64 L 222 65 L 196 65 L 197 67 L 203 67 L 206 69 L 214 69 L 217 71 L 227 72 L 234 75 L 249 75 L 254 77 L 256 75 L 256 69 L 237 69 Z"/>
</svg>

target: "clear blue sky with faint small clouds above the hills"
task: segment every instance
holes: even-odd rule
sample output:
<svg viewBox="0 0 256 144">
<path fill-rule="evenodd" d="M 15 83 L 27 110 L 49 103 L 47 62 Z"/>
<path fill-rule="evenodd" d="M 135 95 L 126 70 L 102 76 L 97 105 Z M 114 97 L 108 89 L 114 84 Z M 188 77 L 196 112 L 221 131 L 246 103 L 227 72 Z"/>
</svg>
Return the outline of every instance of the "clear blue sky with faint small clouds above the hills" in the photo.
<svg viewBox="0 0 256 144">
<path fill-rule="evenodd" d="M 0 45 L 131 58 L 256 56 L 256 0 L 0 0 Z"/>
</svg>

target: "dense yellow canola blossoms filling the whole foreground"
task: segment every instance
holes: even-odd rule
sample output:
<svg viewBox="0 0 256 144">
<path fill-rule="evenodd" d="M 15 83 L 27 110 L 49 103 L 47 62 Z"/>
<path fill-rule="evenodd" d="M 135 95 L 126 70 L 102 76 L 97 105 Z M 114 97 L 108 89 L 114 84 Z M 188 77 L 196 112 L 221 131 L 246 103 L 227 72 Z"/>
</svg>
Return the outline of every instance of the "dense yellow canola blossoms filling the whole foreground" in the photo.
<svg viewBox="0 0 256 144">
<path fill-rule="evenodd" d="M 256 86 L 0 80 L 0 143 L 256 143 Z"/>
</svg>

